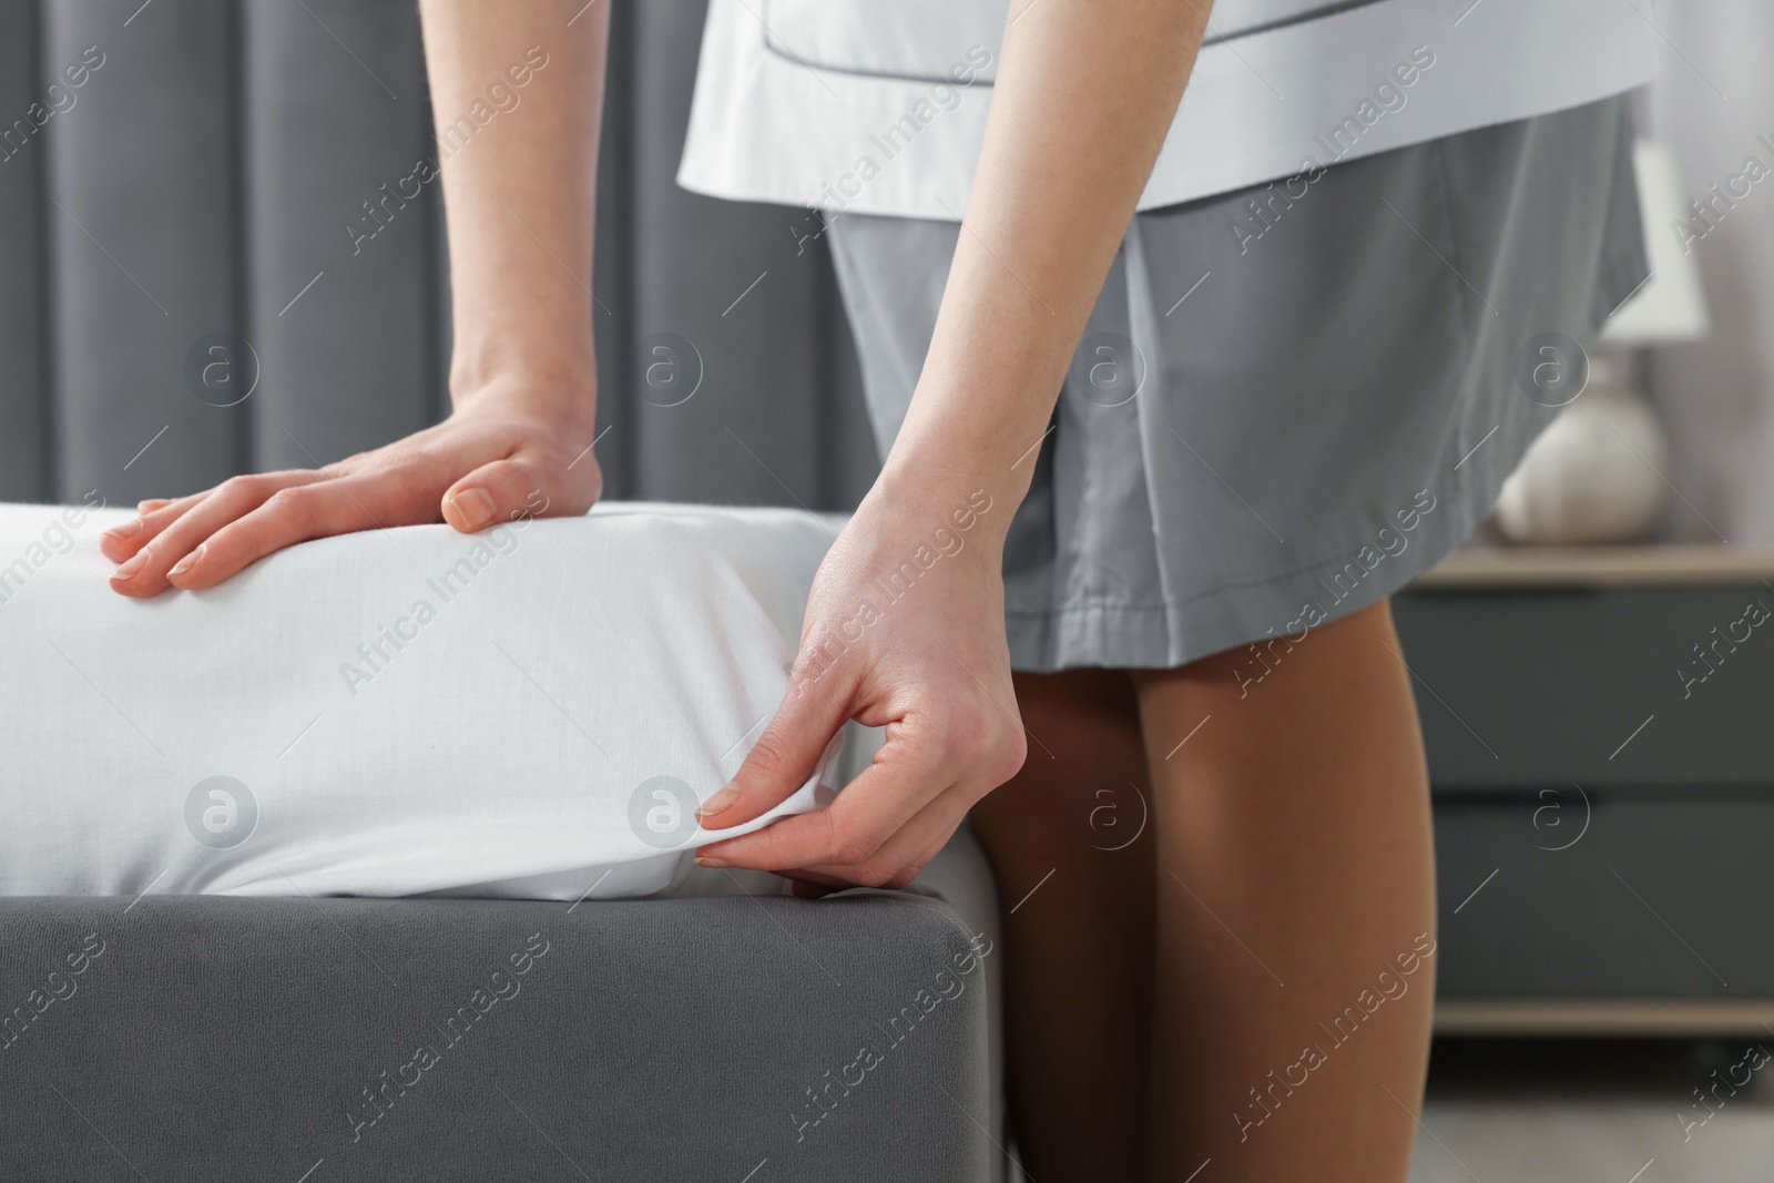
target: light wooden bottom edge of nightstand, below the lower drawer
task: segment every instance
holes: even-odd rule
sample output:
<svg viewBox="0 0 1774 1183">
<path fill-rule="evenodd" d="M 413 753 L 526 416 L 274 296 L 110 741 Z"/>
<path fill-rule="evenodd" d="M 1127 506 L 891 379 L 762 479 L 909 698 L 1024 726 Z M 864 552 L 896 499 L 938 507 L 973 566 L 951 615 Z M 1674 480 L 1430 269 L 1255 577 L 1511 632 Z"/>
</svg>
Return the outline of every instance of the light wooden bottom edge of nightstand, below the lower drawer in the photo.
<svg viewBox="0 0 1774 1183">
<path fill-rule="evenodd" d="M 1437 999 L 1437 1036 L 1762 1036 L 1774 999 Z"/>
</svg>

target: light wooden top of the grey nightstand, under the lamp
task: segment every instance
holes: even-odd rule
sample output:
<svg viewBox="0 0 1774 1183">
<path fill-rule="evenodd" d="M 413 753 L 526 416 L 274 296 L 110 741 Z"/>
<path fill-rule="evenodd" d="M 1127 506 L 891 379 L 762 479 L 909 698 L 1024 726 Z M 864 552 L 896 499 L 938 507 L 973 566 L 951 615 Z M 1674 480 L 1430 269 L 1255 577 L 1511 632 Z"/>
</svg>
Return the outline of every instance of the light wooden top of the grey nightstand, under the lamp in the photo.
<svg viewBox="0 0 1774 1183">
<path fill-rule="evenodd" d="M 1412 591 L 1481 587 L 1769 585 L 1767 546 L 1464 546 L 1423 573 Z"/>
</svg>

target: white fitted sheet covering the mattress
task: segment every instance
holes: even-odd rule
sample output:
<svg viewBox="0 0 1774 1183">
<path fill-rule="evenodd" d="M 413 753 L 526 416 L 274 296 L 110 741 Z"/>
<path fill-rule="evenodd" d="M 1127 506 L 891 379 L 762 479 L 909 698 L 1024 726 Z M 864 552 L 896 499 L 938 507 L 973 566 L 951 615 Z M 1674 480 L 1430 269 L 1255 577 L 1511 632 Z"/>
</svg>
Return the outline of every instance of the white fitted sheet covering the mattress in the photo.
<svg viewBox="0 0 1774 1183">
<path fill-rule="evenodd" d="M 0 505 L 0 894 L 775 892 L 695 805 L 788 683 L 841 518 L 603 504 L 106 587 L 105 507 Z M 869 738 L 779 809 L 820 807 Z"/>
</svg>

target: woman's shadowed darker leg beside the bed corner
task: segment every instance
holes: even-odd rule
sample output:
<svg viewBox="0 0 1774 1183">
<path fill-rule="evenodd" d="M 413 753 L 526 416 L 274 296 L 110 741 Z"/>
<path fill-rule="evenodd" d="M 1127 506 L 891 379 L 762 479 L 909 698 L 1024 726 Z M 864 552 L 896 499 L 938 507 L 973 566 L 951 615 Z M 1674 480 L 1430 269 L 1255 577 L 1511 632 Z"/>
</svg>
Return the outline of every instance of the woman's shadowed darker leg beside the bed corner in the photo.
<svg viewBox="0 0 1774 1183">
<path fill-rule="evenodd" d="M 1022 1162 L 1040 1183 L 1134 1183 L 1150 1144 L 1157 825 L 1134 686 L 1123 670 L 1017 674 L 1017 704 L 1029 757 L 972 819 L 1008 912 Z"/>
</svg>

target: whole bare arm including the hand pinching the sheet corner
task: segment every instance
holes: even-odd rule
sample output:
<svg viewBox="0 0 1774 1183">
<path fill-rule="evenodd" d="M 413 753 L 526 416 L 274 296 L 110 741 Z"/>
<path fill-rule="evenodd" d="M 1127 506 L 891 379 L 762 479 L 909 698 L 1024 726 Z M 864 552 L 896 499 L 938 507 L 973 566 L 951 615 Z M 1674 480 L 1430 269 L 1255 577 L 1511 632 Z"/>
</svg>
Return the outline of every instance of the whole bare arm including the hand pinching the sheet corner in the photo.
<svg viewBox="0 0 1774 1183">
<path fill-rule="evenodd" d="M 1002 543 L 1034 468 L 1024 456 L 1176 114 L 1206 9 L 1013 0 L 912 406 L 814 578 L 791 688 L 704 802 L 703 825 L 747 823 L 786 800 L 846 718 L 883 727 L 885 743 L 825 812 L 715 842 L 703 866 L 905 887 L 1022 766 Z"/>
</svg>

